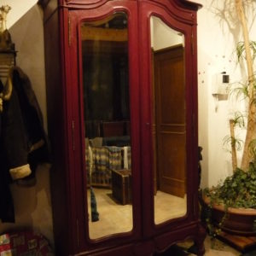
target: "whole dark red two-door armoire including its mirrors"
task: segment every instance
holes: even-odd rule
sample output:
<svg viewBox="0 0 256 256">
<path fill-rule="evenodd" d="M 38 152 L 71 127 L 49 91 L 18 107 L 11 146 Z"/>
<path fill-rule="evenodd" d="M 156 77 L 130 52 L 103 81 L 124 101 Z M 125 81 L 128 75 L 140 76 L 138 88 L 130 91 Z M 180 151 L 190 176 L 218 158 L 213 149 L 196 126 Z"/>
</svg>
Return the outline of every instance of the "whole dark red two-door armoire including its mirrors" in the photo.
<svg viewBox="0 0 256 256">
<path fill-rule="evenodd" d="M 44 9 L 56 255 L 154 255 L 187 239 L 203 255 L 196 43 L 201 5 L 38 3 Z"/>
</svg>

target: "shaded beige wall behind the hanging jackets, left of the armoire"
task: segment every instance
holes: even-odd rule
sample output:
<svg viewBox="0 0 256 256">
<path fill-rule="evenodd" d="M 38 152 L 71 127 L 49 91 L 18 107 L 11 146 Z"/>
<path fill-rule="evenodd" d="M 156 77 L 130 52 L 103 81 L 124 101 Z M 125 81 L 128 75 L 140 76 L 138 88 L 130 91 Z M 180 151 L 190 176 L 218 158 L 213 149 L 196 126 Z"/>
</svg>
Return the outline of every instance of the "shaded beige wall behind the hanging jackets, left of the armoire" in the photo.
<svg viewBox="0 0 256 256">
<path fill-rule="evenodd" d="M 16 64 L 32 82 L 32 88 L 44 115 L 46 130 L 43 12 L 36 3 L 36 0 L 6 0 L 1 1 L 0 5 L 8 4 L 12 8 L 7 16 L 7 27 L 18 51 Z M 13 183 L 11 191 L 15 205 L 15 224 L 0 222 L 0 234 L 8 230 L 33 228 L 53 243 L 49 164 L 38 167 L 35 186 L 26 188 Z"/>
</svg>

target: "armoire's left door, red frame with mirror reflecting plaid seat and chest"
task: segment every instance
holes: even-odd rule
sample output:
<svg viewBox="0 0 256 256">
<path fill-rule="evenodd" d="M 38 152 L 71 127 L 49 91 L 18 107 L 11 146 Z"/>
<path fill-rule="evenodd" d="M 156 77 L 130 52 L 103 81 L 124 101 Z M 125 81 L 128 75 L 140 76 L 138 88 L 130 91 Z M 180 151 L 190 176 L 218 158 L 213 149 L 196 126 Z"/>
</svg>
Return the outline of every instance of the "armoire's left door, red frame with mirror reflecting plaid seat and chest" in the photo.
<svg viewBox="0 0 256 256">
<path fill-rule="evenodd" d="M 129 240 L 140 230 L 137 10 L 131 11 L 131 1 L 122 9 L 114 6 L 113 1 L 99 8 L 101 15 L 84 11 L 76 29 L 84 219 L 91 243 L 118 236 Z"/>
</svg>

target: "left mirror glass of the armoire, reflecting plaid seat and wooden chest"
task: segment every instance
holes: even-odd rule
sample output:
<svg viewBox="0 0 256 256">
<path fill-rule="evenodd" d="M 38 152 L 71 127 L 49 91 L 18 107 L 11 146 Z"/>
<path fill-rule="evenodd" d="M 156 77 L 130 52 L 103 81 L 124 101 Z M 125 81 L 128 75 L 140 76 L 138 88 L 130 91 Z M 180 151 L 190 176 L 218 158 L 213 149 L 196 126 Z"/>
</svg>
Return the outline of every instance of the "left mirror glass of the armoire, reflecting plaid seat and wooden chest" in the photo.
<svg viewBox="0 0 256 256">
<path fill-rule="evenodd" d="M 90 239 L 132 230 L 127 15 L 81 25 Z"/>
</svg>

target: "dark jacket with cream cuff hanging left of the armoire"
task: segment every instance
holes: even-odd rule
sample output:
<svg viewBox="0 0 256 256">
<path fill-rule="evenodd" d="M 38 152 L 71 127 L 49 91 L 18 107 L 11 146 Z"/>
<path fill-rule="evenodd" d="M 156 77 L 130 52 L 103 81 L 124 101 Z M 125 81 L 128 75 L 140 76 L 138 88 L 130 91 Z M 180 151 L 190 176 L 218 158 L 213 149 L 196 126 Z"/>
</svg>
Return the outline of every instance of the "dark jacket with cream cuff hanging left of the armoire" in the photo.
<svg viewBox="0 0 256 256">
<path fill-rule="evenodd" d="M 5 155 L 5 163 L 0 164 L 7 166 L 9 173 L 4 176 L 14 181 L 34 177 L 36 167 L 48 161 L 49 154 L 43 116 L 30 80 L 19 67 L 11 68 L 9 76 L 13 88 L 9 101 L 3 102 L 0 154 Z"/>
</svg>

